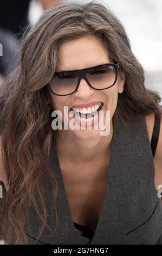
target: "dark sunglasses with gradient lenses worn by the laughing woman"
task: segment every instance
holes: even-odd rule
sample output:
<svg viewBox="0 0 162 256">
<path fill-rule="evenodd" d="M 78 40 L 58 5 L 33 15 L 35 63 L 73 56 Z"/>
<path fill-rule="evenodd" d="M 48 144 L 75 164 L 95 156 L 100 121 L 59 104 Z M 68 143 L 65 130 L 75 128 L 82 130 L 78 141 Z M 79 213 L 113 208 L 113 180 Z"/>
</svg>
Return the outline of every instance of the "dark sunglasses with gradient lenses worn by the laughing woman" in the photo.
<svg viewBox="0 0 162 256">
<path fill-rule="evenodd" d="M 95 90 L 105 90 L 114 86 L 119 69 L 118 63 L 106 63 L 86 69 L 56 71 L 47 86 L 51 93 L 67 96 L 76 92 L 83 78 L 89 87 Z"/>
</svg>

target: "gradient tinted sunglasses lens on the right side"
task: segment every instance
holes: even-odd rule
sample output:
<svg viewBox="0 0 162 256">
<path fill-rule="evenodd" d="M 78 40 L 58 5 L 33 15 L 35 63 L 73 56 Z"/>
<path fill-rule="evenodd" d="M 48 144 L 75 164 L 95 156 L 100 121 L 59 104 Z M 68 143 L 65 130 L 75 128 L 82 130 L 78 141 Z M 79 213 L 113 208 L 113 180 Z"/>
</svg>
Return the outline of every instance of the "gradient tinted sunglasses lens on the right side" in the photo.
<svg viewBox="0 0 162 256">
<path fill-rule="evenodd" d="M 115 66 L 105 65 L 89 69 L 86 72 L 86 77 L 89 83 L 96 89 L 104 89 L 110 87 L 115 82 Z"/>
</svg>

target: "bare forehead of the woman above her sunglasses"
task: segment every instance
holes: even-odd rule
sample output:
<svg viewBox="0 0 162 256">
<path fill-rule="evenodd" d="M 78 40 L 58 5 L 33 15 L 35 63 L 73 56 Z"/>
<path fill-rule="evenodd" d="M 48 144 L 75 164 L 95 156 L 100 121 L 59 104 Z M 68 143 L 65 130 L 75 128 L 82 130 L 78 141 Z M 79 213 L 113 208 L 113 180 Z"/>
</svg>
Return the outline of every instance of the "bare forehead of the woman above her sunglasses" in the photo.
<svg viewBox="0 0 162 256">
<path fill-rule="evenodd" d="M 109 62 L 108 53 L 95 36 L 64 41 L 59 46 L 57 70 L 84 69 Z"/>
</svg>

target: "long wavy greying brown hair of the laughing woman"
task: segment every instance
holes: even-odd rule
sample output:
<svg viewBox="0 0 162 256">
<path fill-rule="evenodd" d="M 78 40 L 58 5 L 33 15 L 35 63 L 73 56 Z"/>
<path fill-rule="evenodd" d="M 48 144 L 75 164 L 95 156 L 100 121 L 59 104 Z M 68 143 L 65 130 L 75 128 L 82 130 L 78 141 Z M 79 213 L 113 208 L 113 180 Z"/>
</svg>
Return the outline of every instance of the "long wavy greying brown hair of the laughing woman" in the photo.
<svg viewBox="0 0 162 256">
<path fill-rule="evenodd" d="M 6 243 L 27 243 L 24 233 L 27 198 L 42 220 L 37 240 L 48 226 L 42 190 L 44 174 L 53 181 L 57 223 L 58 185 L 48 162 L 54 134 L 53 107 L 46 85 L 56 69 L 61 42 L 85 35 L 98 37 L 109 58 L 118 62 L 125 72 L 124 92 L 119 94 L 113 118 L 129 122 L 161 111 L 161 98 L 157 92 L 145 88 L 144 69 L 132 53 L 124 27 L 111 10 L 97 1 L 64 3 L 46 10 L 35 26 L 25 31 L 17 68 L 0 90 L 3 165 L 9 185 L 1 198 L 0 238 Z M 41 210 L 35 194 L 40 199 Z M 10 228 L 14 235 L 12 242 L 8 238 Z"/>
</svg>

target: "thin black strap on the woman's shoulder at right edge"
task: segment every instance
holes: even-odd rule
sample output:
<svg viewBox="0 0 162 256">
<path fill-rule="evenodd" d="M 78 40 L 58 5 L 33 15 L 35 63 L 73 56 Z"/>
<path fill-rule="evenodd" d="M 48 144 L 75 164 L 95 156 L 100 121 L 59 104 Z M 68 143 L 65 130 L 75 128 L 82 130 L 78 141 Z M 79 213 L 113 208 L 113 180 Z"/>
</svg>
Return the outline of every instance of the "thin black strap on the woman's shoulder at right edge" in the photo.
<svg viewBox="0 0 162 256">
<path fill-rule="evenodd" d="M 155 122 L 154 122 L 152 138 L 151 138 L 151 149 L 152 149 L 153 158 L 154 158 L 154 154 L 158 144 L 159 131 L 160 131 L 160 115 L 155 114 Z"/>
</svg>

